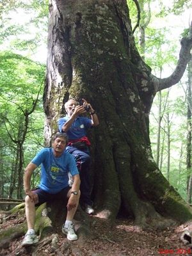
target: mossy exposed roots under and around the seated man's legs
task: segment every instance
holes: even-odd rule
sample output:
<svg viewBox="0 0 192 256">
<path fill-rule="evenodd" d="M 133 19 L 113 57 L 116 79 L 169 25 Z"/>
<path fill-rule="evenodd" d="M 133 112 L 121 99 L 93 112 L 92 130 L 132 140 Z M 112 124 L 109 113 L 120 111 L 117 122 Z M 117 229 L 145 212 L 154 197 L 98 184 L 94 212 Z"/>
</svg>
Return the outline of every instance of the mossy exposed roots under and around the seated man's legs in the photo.
<svg viewBox="0 0 192 256">
<path fill-rule="evenodd" d="M 16 250 L 17 253 L 27 253 L 33 256 L 41 255 L 42 248 L 51 244 L 51 250 L 54 255 L 83 255 L 81 250 L 74 246 L 70 246 L 70 242 L 63 244 L 60 246 L 60 250 L 58 249 L 58 234 L 52 234 L 52 232 L 56 229 L 56 227 L 60 227 L 63 225 L 63 221 L 65 220 L 66 207 L 65 203 L 53 202 L 52 204 L 42 204 L 36 208 L 36 221 L 35 221 L 35 232 L 39 235 L 40 241 L 36 245 L 28 246 L 26 248 L 22 248 L 21 244 L 18 246 Z M 23 205 L 22 205 L 23 207 Z M 17 212 L 20 213 L 21 205 L 17 205 L 13 211 L 8 211 L 10 216 L 13 216 Z M 6 214 L 8 214 L 6 212 Z M 24 215 L 23 215 L 24 216 Z M 6 218 L 9 218 L 7 216 Z M 76 244 L 82 244 L 86 237 L 90 237 L 90 225 L 91 221 L 89 220 L 89 216 L 81 210 L 81 207 L 78 208 L 76 213 L 76 229 L 79 239 Z M 27 223 L 24 221 L 19 225 L 15 225 L 14 227 L 10 227 L 6 230 L 2 230 L 0 232 L 0 248 L 8 248 L 13 239 L 18 238 L 20 236 L 24 236 L 27 230 Z M 31 254 L 32 253 L 32 254 Z"/>
</svg>

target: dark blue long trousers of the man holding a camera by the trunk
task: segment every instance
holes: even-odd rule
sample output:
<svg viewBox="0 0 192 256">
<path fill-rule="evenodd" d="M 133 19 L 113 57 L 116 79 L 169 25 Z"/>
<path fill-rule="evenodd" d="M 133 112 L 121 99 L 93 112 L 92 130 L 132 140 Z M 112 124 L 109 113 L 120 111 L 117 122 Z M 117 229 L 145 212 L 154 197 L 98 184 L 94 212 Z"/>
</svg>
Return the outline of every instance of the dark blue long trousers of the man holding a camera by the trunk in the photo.
<svg viewBox="0 0 192 256">
<path fill-rule="evenodd" d="M 79 150 L 76 147 L 67 146 L 66 151 L 72 154 L 76 159 L 77 168 L 79 170 L 79 175 L 81 179 L 81 196 L 80 204 L 92 205 L 93 202 L 90 199 L 91 196 L 91 182 L 90 182 L 90 151 L 88 148 Z"/>
</svg>

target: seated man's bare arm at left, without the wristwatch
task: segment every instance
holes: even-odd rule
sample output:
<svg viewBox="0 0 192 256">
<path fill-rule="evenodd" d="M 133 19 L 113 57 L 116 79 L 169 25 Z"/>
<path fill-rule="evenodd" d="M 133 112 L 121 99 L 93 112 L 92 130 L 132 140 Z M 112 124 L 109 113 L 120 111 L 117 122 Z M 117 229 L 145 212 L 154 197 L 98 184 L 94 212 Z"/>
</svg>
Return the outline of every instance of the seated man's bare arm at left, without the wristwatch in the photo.
<svg viewBox="0 0 192 256">
<path fill-rule="evenodd" d="M 31 198 L 32 202 L 37 202 L 38 196 L 31 191 L 31 175 L 33 171 L 36 169 L 36 164 L 29 163 L 26 167 L 26 170 L 24 171 L 24 191 L 26 195 L 28 195 Z"/>
</svg>

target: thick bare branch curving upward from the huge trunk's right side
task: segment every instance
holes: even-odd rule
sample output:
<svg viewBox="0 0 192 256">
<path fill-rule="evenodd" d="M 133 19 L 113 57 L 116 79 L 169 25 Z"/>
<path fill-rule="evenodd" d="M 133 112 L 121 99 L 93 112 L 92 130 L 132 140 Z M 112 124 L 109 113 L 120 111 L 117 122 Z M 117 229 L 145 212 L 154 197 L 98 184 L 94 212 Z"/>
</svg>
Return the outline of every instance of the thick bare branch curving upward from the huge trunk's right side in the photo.
<svg viewBox="0 0 192 256">
<path fill-rule="evenodd" d="M 171 87 L 173 84 L 177 84 L 186 70 L 186 66 L 188 65 L 189 60 L 191 60 L 191 48 L 192 48 L 192 22 L 189 27 L 189 35 L 182 38 L 180 41 L 181 48 L 179 52 L 179 60 L 177 62 L 177 67 L 173 71 L 172 75 L 166 77 L 164 79 L 158 79 L 154 77 L 154 81 L 156 80 L 156 92 L 163 90 L 165 88 Z"/>
</svg>

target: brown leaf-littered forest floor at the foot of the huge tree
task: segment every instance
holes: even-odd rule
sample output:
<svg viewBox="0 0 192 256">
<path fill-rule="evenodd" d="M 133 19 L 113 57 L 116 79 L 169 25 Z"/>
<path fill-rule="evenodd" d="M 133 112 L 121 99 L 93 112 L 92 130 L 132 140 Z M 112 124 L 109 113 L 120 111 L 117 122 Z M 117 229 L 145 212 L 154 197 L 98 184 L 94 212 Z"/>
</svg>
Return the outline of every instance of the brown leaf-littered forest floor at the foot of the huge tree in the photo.
<svg viewBox="0 0 192 256">
<path fill-rule="evenodd" d="M 23 216 L 12 216 L 2 221 L 0 214 L 0 230 L 15 226 L 24 221 Z M 109 227 L 108 222 L 98 216 L 90 216 L 90 229 L 92 236 L 77 241 L 67 241 L 61 233 L 61 228 L 55 230 L 57 234 L 56 246 L 51 246 L 51 239 L 44 240 L 33 246 L 33 253 L 29 248 L 22 248 L 20 243 L 23 237 L 13 241 L 0 249 L 0 255 L 58 255 L 58 256 L 148 256 L 148 255 L 192 255 L 192 249 L 180 241 L 180 235 L 186 230 L 186 225 L 171 227 L 167 230 L 139 231 L 134 227 L 132 220 L 118 219 Z M 76 225 L 77 226 L 77 225 Z M 78 234 L 78 232 L 77 232 Z M 29 246 L 31 248 L 31 246 Z"/>
</svg>

